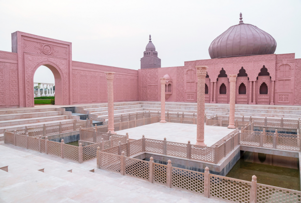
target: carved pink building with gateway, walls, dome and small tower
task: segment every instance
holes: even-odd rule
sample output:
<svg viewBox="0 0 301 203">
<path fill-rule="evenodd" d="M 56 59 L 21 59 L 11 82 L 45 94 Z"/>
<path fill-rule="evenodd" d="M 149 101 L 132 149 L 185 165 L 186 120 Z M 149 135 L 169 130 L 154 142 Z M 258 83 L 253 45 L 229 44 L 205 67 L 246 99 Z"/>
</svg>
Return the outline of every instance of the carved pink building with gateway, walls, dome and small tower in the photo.
<svg viewBox="0 0 301 203">
<path fill-rule="evenodd" d="M 72 60 L 72 43 L 16 31 L 12 52 L 0 51 L 0 108 L 33 107 L 33 76 L 41 65 L 55 77 L 56 105 L 107 102 L 105 72 L 115 72 L 114 101 L 160 101 L 160 78 L 166 79 L 165 101 L 197 101 L 196 67 L 208 67 L 205 102 L 230 102 L 230 75 L 237 75 L 236 104 L 301 105 L 301 59 L 274 54 L 276 41 L 267 32 L 243 23 L 231 26 L 209 46 L 211 59 L 161 67 L 149 40 L 141 69 Z"/>
</svg>

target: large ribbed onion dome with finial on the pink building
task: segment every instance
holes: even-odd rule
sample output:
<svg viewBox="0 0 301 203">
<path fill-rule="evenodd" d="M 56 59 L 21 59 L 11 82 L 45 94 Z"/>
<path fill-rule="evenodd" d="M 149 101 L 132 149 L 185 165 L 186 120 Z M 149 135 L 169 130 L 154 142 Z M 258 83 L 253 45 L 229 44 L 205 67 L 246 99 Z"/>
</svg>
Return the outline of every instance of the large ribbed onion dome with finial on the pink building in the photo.
<svg viewBox="0 0 301 203">
<path fill-rule="evenodd" d="M 240 13 L 238 25 L 229 27 L 222 35 L 211 42 L 209 55 L 211 58 L 234 56 L 253 56 L 273 54 L 276 40 L 264 30 L 242 21 Z"/>
</svg>

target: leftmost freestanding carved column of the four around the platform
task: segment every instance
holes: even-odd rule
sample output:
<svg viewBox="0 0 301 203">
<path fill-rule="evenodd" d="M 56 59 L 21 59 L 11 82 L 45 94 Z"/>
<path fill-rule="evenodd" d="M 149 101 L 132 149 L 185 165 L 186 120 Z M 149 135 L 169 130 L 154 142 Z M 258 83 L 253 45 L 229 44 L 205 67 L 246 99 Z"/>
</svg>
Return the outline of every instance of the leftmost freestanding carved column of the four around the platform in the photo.
<svg viewBox="0 0 301 203">
<path fill-rule="evenodd" d="M 105 72 L 107 77 L 107 86 L 108 86 L 108 131 L 116 134 L 114 132 L 114 92 L 113 92 L 113 80 L 114 72 Z"/>
</svg>

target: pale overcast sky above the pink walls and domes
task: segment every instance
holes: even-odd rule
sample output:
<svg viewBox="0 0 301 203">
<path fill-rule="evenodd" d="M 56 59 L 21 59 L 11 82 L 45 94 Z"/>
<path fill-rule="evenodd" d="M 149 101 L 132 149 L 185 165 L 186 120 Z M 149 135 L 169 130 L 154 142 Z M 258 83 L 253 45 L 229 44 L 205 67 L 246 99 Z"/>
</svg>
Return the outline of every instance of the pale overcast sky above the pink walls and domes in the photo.
<svg viewBox="0 0 301 203">
<path fill-rule="evenodd" d="M 253 24 L 277 42 L 276 54 L 301 58 L 301 1 L 31 1 L 0 0 L 0 50 L 11 51 L 11 33 L 72 42 L 72 60 L 140 69 L 149 35 L 161 66 L 209 59 L 210 43 L 230 26 Z M 54 83 L 39 67 L 34 82 Z"/>
</svg>

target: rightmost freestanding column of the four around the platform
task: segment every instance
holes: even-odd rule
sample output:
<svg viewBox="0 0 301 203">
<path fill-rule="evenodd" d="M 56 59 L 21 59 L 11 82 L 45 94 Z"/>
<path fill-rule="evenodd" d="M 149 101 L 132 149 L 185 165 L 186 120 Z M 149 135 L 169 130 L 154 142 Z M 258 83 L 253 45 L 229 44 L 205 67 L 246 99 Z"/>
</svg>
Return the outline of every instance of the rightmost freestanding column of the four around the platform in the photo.
<svg viewBox="0 0 301 203">
<path fill-rule="evenodd" d="M 228 128 L 236 128 L 234 125 L 235 120 L 235 86 L 237 75 L 230 75 L 230 114 Z"/>
</svg>

